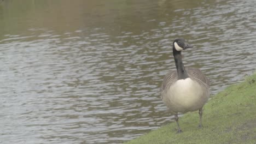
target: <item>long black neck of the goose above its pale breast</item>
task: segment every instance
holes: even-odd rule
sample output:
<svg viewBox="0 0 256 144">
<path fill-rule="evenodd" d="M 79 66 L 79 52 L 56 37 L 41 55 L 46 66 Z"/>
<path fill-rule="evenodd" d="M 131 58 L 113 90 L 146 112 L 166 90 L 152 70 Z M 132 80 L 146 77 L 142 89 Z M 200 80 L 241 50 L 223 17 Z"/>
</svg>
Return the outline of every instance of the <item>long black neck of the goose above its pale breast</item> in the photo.
<svg viewBox="0 0 256 144">
<path fill-rule="evenodd" d="M 174 61 L 177 69 L 178 80 L 187 79 L 188 73 L 185 70 L 185 67 L 182 62 L 181 51 L 177 51 L 174 45 L 173 45 L 173 57 L 174 57 Z"/>
</svg>

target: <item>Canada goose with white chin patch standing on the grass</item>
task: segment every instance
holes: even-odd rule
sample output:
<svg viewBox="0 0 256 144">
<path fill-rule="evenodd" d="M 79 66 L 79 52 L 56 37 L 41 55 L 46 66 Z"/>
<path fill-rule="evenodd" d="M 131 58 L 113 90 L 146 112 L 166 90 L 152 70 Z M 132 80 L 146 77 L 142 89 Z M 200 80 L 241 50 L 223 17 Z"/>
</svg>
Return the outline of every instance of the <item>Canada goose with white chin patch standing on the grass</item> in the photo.
<svg viewBox="0 0 256 144">
<path fill-rule="evenodd" d="M 178 112 L 199 110 L 202 127 L 202 107 L 210 97 L 210 81 L 196 68 L 185 68 L 182 62 L 181 51 L 193 47 L 185 43 L 184 39 L 173 41 L 173 57 L 176 70 L 170 71 L 164 77 L 161 86 L 161 98 L 164 104 L 174 114 L 178 125 L 178 133 L 182 132 L 178 123 Z"/>
</svg>

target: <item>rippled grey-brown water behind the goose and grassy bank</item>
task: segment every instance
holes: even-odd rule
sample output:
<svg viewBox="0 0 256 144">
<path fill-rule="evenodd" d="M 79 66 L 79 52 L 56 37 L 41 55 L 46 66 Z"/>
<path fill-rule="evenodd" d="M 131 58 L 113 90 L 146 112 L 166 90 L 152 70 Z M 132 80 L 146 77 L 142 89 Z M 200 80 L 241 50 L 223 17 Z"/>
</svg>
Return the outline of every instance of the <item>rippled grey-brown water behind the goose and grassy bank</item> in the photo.
<svg viewBox="0 0 256 144">
<path fill-rule="evenodd" d="M 216 94 L 256 67 L 255 1 L 0 1 L 0 143 L 122 143 L 170 123 L 172 40 Z"/>
</svg>

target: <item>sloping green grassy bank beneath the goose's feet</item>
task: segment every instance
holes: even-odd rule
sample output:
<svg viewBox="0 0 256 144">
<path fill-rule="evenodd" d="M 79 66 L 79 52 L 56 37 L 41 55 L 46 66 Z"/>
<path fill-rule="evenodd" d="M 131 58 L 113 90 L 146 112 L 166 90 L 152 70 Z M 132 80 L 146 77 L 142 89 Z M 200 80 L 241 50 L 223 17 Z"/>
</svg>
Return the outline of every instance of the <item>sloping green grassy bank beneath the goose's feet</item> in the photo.
<svg viewBox="0 0 256 144">
<path fill-rule="evenodd" d="M 256 74 L 218 93 L 198 112 L 179 118 L 183 133 L 170 123 L 127 143 L 256 143 Z"/>
</svg>

